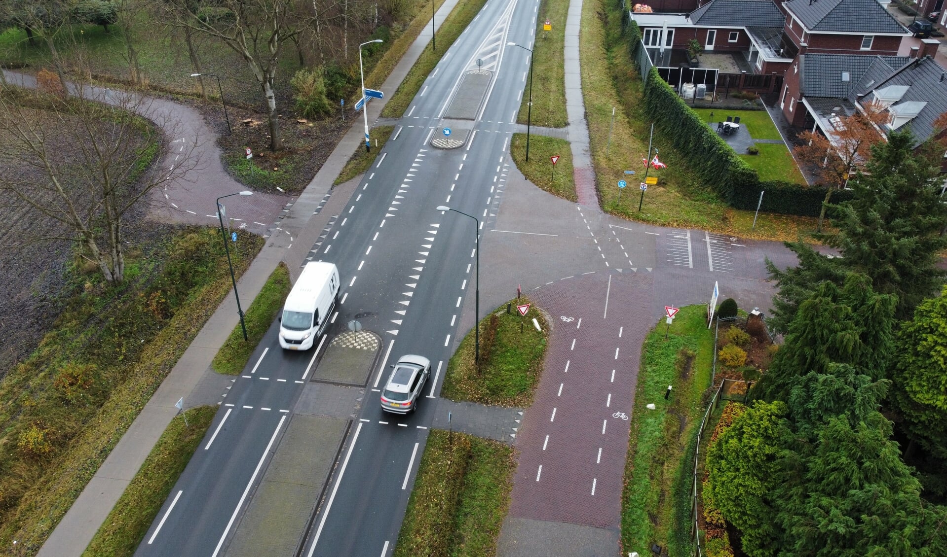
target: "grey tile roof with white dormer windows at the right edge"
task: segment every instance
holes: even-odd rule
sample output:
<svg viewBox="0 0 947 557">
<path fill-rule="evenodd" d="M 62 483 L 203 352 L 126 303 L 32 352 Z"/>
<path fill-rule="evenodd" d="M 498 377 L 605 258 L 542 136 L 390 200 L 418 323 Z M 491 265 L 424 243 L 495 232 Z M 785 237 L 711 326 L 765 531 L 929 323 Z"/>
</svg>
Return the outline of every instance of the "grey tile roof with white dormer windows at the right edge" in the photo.
<svg viewBox="0 0 947 557">
<path fill-rule="evenodd" d="M 944 78 L 941 81 L 941 78 Z M 873 91 L 890 86 L 908 86 L 893 108 L 894 112 L 904 113 L 909 109 L 918 109 L 917 116 L 899 128 L 914 133 L 914 145 L 919 146 L 934 133 L 934 120 L 947 112 L 947 69 L 929 56 L 904 64 L 887 78 L 873 84 L 864 96 L 857 97 L 863 105 L 874 99 Z M 856 100 L 853 94 L 849 100 Z M 926 103 L 920 105 L 920 103 Z"/>
</svg>

